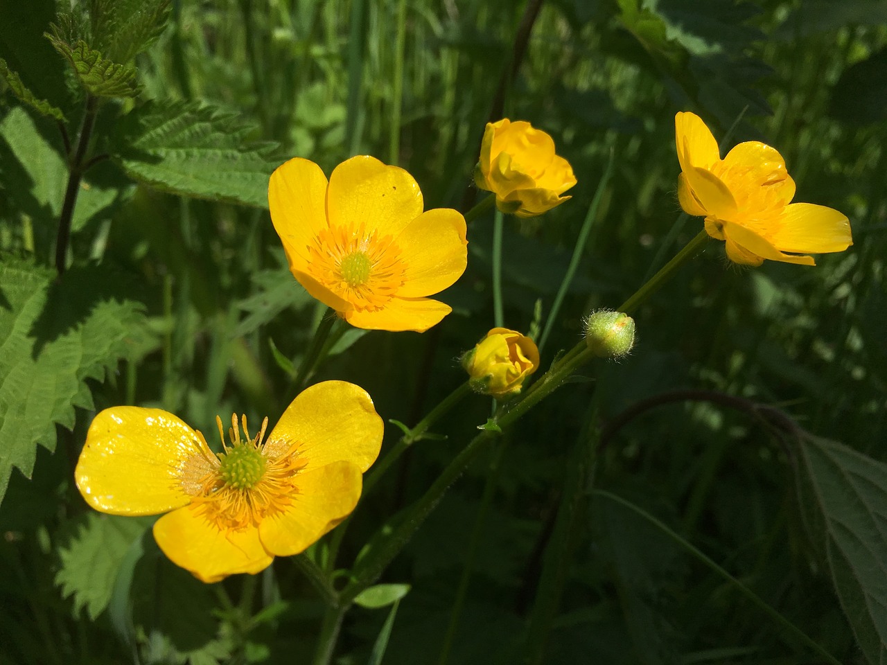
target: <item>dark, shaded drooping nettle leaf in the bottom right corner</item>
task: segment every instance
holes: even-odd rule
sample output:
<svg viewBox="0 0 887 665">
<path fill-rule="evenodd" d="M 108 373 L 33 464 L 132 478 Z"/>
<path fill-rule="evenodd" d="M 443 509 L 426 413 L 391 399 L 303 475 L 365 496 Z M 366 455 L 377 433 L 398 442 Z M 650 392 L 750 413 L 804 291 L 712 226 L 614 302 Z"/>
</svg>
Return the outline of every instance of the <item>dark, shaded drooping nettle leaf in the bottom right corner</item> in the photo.
<svg viewBox="0 0 887 665">
<path fill-rule="evenodd" d="M 887 662 L 887 465 L 840 443 L 799 445 L 805 507 L 822 528 L 838 599 L 867 661 Z"/>
</svg>

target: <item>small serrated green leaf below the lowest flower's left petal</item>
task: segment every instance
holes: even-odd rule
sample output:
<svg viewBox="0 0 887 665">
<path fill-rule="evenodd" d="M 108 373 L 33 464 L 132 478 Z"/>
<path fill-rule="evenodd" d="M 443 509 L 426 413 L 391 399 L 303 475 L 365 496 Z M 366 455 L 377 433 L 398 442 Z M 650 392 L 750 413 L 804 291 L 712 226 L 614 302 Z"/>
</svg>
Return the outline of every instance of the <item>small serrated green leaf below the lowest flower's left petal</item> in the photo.
<svg viewBox="0 0 887 665">
<path fill-rule="evenodd" d="M 123 558 L 150 523 L 98 512 L 79 520 L 75 536 L 59 550 L 61 569 L 55 577 L 62 596 L 74 596 L 75 614 L 85 608 L 94 621 L 105 611 Z"/>
</svg>

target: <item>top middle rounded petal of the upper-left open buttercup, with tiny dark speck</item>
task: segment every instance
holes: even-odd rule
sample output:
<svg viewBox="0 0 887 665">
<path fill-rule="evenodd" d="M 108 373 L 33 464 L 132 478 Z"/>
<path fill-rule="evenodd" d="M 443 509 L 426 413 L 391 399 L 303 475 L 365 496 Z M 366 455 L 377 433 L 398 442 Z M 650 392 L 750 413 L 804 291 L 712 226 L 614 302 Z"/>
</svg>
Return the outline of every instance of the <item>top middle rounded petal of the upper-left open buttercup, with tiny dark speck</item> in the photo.
<svg viewBox="0 0 887 665">
<path fill-rule="evenodd" d="M 422 214 L 422 192 L 403 168 L 369 156 L 343 161 L 330 176 L 326 211 L 332 226 L 379 231 L 396 237 Z"/>
</svg>

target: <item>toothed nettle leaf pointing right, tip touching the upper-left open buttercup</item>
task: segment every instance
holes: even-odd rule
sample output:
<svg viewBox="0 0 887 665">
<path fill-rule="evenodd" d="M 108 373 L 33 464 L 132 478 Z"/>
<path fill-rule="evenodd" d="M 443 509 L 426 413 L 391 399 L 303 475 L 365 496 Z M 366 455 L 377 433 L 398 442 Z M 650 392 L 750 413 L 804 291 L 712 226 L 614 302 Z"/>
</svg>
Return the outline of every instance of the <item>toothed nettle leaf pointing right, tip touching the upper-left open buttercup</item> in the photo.
<svg viewBox="0 0 887 665">
<path fill-rule="evenodd" d="M 236 113 L 196 103 L 148 103 L 119 123 L 114 160 L 135 180 L 200 199 L 268 207 L 277 144 L 247 139 Z"/>
</svg>

